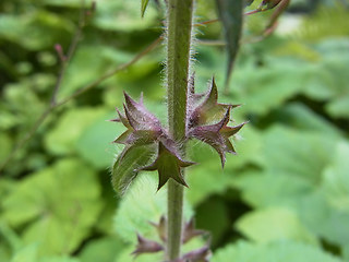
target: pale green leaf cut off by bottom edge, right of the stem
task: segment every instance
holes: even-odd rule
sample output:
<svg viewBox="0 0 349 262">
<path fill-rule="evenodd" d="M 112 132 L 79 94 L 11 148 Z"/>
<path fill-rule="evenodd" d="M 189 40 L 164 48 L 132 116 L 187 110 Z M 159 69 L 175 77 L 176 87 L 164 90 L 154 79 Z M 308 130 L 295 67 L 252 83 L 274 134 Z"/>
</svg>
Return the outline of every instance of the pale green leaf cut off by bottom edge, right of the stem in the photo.
<svg viewBox="0 0 349 262">
<path fill-rule="evenodd" d="M 234 262 L 342 262 L 342 260 L 314 246 L 291 241 L 263 246 L 240 241 L 217 250 L 210 261 L 227 262 L 230 258 L 233 258 Z"/>
</svg>

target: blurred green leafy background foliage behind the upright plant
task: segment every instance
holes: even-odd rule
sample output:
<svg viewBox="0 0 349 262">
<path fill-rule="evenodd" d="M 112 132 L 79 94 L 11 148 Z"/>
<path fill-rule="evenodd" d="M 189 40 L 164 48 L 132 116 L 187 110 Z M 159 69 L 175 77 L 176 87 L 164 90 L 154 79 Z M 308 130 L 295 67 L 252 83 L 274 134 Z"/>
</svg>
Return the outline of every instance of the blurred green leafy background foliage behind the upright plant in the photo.
<svg viewBox="0 0 349 262">
<path fill-rule="evenodd" d="M 263 41 L 253 39 L 269 13 L 246 19 L 232 93 L 219 97 L 243 105 L 237 122 L 250 120 L 238 155 L 221 170 L 207 145 L 195 142 L 190 152 L 202 164 L 186 175 L 185 217 L 195 214 L 212 233 L 214 262 L 349 260 L 349 11 L 346 1 L 313 2 L 293 1 Z M 80 8 L 80 0 L 1 1 L 0 163 L 49 105 L 60 68 L 53 46 L 67 52 Z M 198 0 L 197 20 L 215 17 L 214 1 Z M 58 98 L 130 61 L 161 34 L 161 19 L 154 1 L 144 19 L 140 0 L 97 1 Z M 213 74 L 222 87 L 224 49 L 205 45 L 222 38 L 220 25 L 200 26 L 196 38 L 196 88 Z M 8 163 L 0 261 L 128 262 L 137 231 L 157 239 L 148 222 L 165 213 L 165 190 L 156 193 L 156 175 L 144 174 L 124 199 L 115 195 L 108 168 L 121 147 L 111 141 L 123 129 L 106 120 L 121 108 L 123 90 L 144 92 L 146 106 L 166 118 L 164 53 L 158 47 L 52 111 Z"/>
</svg>

